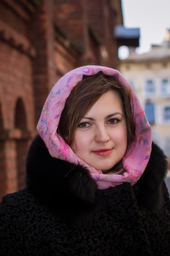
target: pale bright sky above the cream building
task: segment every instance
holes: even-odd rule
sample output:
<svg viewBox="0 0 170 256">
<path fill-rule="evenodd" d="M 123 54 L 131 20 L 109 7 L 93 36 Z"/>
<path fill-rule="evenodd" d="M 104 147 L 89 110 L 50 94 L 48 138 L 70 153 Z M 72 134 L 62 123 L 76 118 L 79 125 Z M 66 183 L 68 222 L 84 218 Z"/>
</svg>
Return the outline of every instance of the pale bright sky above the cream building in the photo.
<svg viewBox="0 0 170 256">
<path fill-rule="evenodd" d="M 170 0 L 121 0 L 124 26 L 139 27 L 140 40 L 137 54 L 150 50 L 151 44 L 160 45 L 166 28 L 170 29 Z M 119 58 L 126 56 L 122 47 Z"/>
</svg>

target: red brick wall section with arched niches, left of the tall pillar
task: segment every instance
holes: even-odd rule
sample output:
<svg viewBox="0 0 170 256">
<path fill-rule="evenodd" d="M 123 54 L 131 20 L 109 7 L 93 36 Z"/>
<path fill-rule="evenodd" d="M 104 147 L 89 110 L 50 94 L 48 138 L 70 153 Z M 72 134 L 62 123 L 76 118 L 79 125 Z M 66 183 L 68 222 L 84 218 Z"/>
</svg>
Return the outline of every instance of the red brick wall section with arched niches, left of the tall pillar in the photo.
<svg viewBox="0 0 170 256">
<path fill-rule="evenodd" d="M 26 33 L 25 20 L 1 2 L 0 197 L 24 186 L 23 159 L 35 134 L 31 43 Z"/>
</svg>

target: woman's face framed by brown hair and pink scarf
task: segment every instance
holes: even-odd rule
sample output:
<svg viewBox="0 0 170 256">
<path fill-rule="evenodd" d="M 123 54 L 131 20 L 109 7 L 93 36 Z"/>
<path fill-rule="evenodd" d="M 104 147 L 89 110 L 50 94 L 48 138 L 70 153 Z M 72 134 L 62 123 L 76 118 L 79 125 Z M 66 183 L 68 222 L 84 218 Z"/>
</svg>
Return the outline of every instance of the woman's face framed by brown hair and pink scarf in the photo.
<svg viewBox="0 0 170 256">
<path fill-rule="evenodd" d="M 122 102 L 117 92 L 108 91 L 80 121 L 71 148 L 87 164 L 105 172 L 123 158 L 126 147 Z"/>
</svg>

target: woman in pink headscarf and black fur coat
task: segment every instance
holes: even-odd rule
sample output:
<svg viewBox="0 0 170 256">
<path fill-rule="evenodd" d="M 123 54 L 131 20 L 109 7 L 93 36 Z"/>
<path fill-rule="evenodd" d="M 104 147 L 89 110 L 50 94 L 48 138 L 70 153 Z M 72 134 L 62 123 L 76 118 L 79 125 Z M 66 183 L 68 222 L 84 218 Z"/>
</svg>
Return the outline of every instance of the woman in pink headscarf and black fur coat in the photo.
<svg viewBox="0 0 170 256">
<path fill-rule="evenodd" d="M 0 205 L 0 255 L 170 255 L 167 162 L 130 84 L 84 66 L 53 87 Z"/>
</svg>

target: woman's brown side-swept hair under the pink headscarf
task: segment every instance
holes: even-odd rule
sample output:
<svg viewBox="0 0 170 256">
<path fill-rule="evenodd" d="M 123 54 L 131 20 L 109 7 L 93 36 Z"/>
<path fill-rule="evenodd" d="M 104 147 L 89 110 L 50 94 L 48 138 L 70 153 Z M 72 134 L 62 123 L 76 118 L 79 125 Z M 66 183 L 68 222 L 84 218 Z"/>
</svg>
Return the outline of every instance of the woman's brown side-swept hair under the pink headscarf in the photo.
<svg viewBox="0 0 170 256">
<path fill-rule="evenodd" d="M 66 100 L 57 132 L 69 146 L 73 143 L 79 121 L 102 94 L 110 90 L 118 92 L 123 103 L 128 145 L 134 140 L 135 124 L 132 117 L 130 89 L 120 83 L 117 76 L 108 76 L 103 72 L 99 72 L 92 76 L 83 76 L 82 81 L 75 86 Z"/>
</svg>

